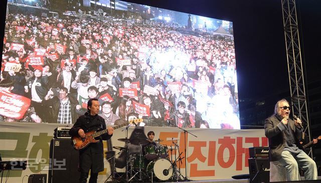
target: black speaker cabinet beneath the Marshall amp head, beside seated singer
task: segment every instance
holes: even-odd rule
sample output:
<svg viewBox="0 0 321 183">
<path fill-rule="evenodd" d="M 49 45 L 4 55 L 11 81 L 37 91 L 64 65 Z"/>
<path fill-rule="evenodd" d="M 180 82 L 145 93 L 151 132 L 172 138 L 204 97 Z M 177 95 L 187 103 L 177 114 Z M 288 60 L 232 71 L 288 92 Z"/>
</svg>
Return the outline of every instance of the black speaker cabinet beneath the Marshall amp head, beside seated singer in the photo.
<svg viewBox="0 0 321 183">
<path fill-rule="evenodd" d="M 270 182 L 270 161 L 267 157 L 249 158 L 251 183 Z"/>
</svg>

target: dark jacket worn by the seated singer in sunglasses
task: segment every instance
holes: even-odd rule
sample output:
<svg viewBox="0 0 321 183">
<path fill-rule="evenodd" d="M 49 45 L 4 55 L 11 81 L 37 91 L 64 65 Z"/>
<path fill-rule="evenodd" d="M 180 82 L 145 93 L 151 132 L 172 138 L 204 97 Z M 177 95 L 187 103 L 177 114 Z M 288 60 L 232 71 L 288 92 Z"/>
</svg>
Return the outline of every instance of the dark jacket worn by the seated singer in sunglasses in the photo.
<svg viewBox="0 0 321 183">
<path fill-rule="evenodd" d="M 280 123 L 282 117 L 279 115 L 272 115 L 265 119 L 264 129 L 265 136 L 269 139 L 269 159 L 270 161 L 277 161 L 281 158 L 281 153 L 284 149 L 286 134 L 281 131 L 277 126 Z M 287 119 L 287 124 L 291 128 L 294 134 L 295 144 L 301 148 L 299 145 L 299 140 L 302 138 L 302 129 L 294 125 L 294 121 L 290 118 Z"/>
</svg>

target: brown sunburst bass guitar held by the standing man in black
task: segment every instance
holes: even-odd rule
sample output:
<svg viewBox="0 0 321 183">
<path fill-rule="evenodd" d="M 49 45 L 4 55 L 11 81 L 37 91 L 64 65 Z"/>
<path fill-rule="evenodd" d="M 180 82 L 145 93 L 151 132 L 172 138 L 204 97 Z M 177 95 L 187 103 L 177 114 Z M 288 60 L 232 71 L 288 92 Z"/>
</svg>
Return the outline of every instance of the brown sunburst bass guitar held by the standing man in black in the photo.
<svg viewBox="0 0 321 183">
<path fill-rule="evenodd" d="M 133 120 L 129 120 L 128 122 L 125 122 L 123 124 L 117 125 L 117 126 L 113 126 L 114 129 L 123 127 L 123 126 L 127 126 L 128 124 L 135 124 L 137 122 L 141 122 L 143 121 L 143 119 L 133 119 Z M 89 143 L 97 143 L 99 140 L 96 140 L 95 137 L 100 136 L 102 134 L 108 133 L 108 129 L 104 129 L 101 131 L 89 131 L 87 133 L 85 133 L 85 137 L 80 137 L 79 135 L 77 136 L 72 136 L 71 140 L 72 143 L 74 144 L 74 148 L 75 149 L 82 149 L 85 148 Z"/>
</svg>

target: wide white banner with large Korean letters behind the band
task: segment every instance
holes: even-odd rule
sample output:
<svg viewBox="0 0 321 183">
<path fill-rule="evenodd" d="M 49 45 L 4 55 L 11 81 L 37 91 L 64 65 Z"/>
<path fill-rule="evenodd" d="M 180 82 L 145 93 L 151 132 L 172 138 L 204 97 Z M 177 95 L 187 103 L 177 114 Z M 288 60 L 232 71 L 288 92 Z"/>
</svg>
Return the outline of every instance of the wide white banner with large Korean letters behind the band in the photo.
<svg viewBox="0 0 321 183">
<path fill-rule="evenodd" d="M 20 182 L 24 175 L 48 174 L 50 140 L 54 129 L 59 125 L 56 123 L 0 122 L 2 159 L 28 160 L 26 170 L 10 171 L 9 182 Z M 113 146 L 125 147 L 123 141 L 117 140 L 125 138 L 126 130 L 122 131 L 122 129 L 124 127 L 114 131 L 111 138 Z M 174 148 L 174 143 L 177 143 L 179 148 L 176 151 L 173 150 L 173 154 L 171 150 L 168 150 L 168 159 L 171 160 L 171 155 L 175 159 L 175 153 L 177 156 L 182 153 L 182 163 L 178 161 L 177 164 L 180 165 L 180 171 L 185 176 L 185 160 L 187 159 L 187 176 L 191 180 L 230 179 L 233 175 L 247 174 L 249 173 L 248 148 L 268 145 L 264 129 L 186 129 L 197 137 L 187 133 L 184 138 L 184 131 L 174 127 L 131 126 L 128 128 L 128 138 L 146 137 L 147 132 L 152 130 L 155 133 L 154 139 L 164 140 L 160 144 L 167 146 L 168 149 L 171 145 Z M 185 141 L 187 155 L 185 155 Z M 107 151 L 107 145 L 104 141 L 104 151 Z M 119 152 L 118 149 L 113 150 L 116 154 Z M 116 155 L 116 158 L 120 159 L 119 155 Z M 106 159 L 104 162 L 105 169 L 99 173 L 98 182 L 104 182 L 110 174 L 109 162 Z M 64 165 L 62 164 L 61 167 Z M 116 171 L 124 172 L 124 168 L 116 168 Z"/>
</svg>

